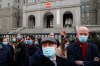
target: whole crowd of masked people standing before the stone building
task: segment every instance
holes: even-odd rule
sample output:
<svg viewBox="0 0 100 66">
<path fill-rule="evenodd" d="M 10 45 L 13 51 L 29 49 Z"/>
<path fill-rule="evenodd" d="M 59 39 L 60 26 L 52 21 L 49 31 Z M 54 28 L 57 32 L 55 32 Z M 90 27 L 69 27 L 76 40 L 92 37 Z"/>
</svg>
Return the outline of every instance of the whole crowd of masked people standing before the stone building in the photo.
<svg viewBox="0 0 100 66">
<path fill-rule="evenodd" d="M 61 42 L 54 33 L 46 38 L 17 34 L 0 39 L 0 66 L 100 66 L 100 39 L 96 32 L 81 26 L 75 40 L 65 31 Z"/>
</svg>

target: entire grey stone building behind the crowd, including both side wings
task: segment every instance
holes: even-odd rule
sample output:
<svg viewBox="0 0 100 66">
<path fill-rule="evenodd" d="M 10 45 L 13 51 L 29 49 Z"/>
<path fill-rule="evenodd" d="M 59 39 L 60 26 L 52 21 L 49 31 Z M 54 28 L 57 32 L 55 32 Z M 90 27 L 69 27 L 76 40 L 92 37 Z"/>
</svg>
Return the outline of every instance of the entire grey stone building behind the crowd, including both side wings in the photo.
<svg viewBox="0 0 100 66">
<path fill-rule="evenodd" d="M 0 33 L 100 31 L 100 0 L 0 0 Z"/>
</svg>

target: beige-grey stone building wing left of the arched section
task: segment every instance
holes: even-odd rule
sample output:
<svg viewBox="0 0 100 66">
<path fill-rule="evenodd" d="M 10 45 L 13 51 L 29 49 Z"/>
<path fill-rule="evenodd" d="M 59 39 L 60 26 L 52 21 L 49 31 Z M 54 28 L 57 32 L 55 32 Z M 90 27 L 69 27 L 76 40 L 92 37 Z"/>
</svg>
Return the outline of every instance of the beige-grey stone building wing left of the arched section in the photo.
<svg viewBox="0 0 100 66">
<path fill-rule="evenodd" d="M 24 0 L 0 0 L 0 33 L 9 33 L 22 26 Z"/>
</svg>

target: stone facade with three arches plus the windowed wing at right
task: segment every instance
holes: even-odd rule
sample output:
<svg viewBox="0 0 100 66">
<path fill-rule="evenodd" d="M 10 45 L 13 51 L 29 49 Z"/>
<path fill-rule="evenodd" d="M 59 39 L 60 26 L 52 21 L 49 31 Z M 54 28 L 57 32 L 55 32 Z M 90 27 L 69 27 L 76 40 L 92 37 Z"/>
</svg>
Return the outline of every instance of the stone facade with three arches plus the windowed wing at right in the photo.
<svg viewBox="0 0 100 66">
<path fill-rule="evenodd" d="M 23 6 L 22 33 L 73 33 L 79 26 L 100 31 L 99 0 L 35 0 Z M 46 7 L 47 3 L 50 7 Z M 98 8 L 98 10 L 96 10 Z"/>
</svg>

